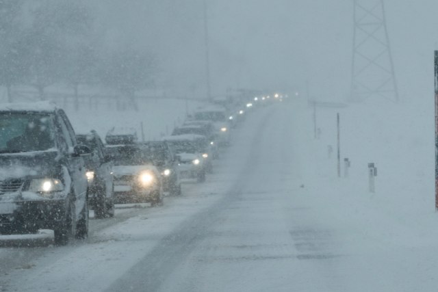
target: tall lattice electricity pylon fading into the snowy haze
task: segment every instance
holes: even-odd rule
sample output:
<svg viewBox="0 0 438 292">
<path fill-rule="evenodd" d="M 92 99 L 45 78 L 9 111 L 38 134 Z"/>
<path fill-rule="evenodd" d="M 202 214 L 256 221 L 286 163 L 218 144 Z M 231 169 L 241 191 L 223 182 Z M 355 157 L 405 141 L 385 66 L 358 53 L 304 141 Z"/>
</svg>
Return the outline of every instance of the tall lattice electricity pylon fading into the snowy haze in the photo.
<svg viewBox="0 0 438 292">
<path fill-rule="evenodd" d="M 383 0 L 353 0 L 355 30 L 352 54 L 352 101 L 387 98 L 398 101 Z"/>
</svg>

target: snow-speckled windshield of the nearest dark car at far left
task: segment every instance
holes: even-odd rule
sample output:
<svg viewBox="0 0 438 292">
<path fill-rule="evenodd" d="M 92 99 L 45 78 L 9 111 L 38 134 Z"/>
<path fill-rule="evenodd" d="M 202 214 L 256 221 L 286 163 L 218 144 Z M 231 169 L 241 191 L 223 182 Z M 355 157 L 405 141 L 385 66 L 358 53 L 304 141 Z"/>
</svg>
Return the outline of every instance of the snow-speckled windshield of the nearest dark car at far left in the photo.
<svg viewBox="0 0 438 292">
<path fill-rule="evenodd" d="M 55 147 L 50 114 L 0 113 L 0 153 L 42 151 Z"/>
</svg>

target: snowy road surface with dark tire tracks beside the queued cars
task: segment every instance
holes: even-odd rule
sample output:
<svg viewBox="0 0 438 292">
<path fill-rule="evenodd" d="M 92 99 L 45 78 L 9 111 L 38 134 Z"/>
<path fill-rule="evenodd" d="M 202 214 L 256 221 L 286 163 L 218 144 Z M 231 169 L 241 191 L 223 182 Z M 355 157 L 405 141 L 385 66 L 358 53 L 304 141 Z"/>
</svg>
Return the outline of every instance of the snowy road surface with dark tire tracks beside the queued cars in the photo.
<svg viewBox="0 0 438 292">
<path fill-rule="evenodd" d="M 0 237 L 0 290 L 434 291 L 435 237 L 337 193 L 308 120 L 300 103 L 257 109 L 207 182 L 91 220 L 86 242 Z"/>
</svg>

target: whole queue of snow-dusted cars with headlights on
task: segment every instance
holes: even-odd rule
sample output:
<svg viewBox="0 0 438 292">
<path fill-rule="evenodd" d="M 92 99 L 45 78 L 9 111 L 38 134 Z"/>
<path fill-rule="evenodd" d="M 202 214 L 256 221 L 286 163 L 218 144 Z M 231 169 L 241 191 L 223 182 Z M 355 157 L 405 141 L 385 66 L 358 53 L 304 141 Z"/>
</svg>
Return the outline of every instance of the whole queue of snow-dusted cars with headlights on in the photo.
<svg viewBox="0 0 438 292">
<path fill-rule="evenodd" d="M 96 218 L 113 217 L 115 204 L 181 196 L 182 183 L 213 171 L 243 116 L 208 105 L 160 140 L 114 127 L 104 144 L 96 131 L 76 134 L 53 103 L 0 105 L 0 234 L 53 229 L 55 244 L 65 245 L 87 237 L 89 207 Z"/>
</svg>

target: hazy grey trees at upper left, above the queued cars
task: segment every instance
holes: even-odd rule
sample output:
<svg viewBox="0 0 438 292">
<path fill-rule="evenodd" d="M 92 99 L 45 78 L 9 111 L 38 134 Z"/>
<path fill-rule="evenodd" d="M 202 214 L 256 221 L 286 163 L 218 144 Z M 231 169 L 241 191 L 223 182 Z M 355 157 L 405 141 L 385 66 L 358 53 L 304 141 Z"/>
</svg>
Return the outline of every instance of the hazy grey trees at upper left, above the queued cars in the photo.
<svg viewBox="0 0 438 292">
<path fill-rule="evenodd" d="M 104 42 L 94 10 L 86 0 L 0 0 L 0 85 L 14 101 L 15 85 L 31 85 L 44 99 L 53 84 L 73 88 L 103 85 L 134 102 L 149 87 L 157 58 L 125 40 Z M 78 105 L 76 105 L 78 106 Z"/>
</svg>

